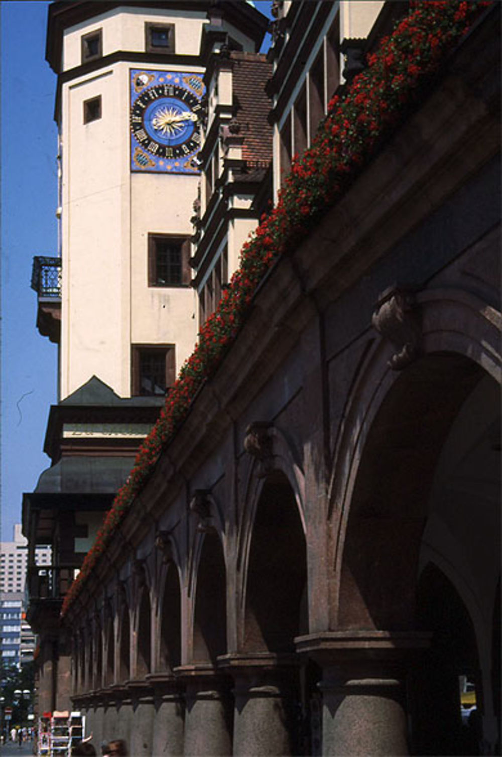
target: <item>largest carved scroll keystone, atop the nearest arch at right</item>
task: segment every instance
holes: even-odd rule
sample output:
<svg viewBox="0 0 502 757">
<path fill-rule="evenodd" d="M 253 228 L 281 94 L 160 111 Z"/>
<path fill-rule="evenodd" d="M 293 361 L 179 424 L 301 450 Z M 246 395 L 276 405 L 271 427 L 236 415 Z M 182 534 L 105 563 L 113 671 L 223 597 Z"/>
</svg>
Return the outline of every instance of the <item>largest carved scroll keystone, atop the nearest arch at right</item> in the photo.
<svg viewBox="0 0 502 757">
<path fill-rule="evenodd" d="M 396 348 L 388 361 L 392 370 L 400 371 L 416 360 L 420 354 L 422 325 L 413 289 L 395 287 L 384 292 L 371 320 L 382 338 Z"/>
</svg>

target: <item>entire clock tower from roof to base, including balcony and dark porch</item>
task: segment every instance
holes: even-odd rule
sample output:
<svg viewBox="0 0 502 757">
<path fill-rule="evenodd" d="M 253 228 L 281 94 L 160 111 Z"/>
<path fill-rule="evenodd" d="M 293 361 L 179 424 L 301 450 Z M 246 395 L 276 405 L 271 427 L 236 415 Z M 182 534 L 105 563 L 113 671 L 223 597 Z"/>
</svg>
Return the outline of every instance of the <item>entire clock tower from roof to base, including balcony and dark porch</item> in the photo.
<svg viewBox="0 0 502 757">
<path fill-rule="evenodd" d="M 195 343 L 204 61 L 225 45 L 254 53 L 267 23 L 241 0 L 49 6 L 60 249 L 35 258 L 32 286 L 39 331 L 59 344 L 60 390 L 51 466 L 23 495 L 40 713 L 72 707 L 61 604 Z M 39 544 L 51 547 L 43 570 Z"/>
</svg>

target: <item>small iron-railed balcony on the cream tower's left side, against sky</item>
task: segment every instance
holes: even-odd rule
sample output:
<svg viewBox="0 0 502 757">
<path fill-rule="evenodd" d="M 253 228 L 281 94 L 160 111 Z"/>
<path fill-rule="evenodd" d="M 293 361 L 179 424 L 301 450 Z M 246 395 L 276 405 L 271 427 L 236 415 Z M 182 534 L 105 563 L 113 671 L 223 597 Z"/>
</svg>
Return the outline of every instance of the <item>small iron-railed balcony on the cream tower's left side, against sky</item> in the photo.
<svg viewBox="0 0 502 757">
<path fill-rule="evenodd" d="M 36 328 L 59 343 L 61 335 L 61 257 L 34 257 L 31 288 L 39 298 Z"/>
</svg>

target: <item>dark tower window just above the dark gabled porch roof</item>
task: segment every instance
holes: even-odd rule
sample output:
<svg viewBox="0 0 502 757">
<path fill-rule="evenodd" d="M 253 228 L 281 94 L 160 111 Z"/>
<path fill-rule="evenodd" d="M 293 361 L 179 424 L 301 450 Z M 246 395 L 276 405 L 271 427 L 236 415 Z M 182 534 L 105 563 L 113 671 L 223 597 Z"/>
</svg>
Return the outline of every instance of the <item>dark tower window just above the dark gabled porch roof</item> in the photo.
<svg viewBox="0 0 502 757">
<path fill-rule="evenodd" d="M 171 344 L 133 345 L 132 394 L 163 397 L 175 379 L 175 352 Z"/>
</svg>

